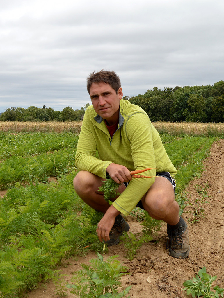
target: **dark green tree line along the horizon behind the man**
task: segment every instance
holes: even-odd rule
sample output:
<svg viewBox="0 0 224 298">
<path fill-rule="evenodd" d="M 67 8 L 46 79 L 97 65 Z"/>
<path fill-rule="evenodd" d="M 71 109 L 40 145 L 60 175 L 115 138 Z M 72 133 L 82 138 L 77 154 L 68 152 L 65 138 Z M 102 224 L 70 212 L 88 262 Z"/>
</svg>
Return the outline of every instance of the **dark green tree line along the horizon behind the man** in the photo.
<svg viewBox="0 0 224 298">
<path fill-rule="evenodd" d="M 151 121 L 166 122 L 224 122 L 224 81 L 206 86 L 175 88 L 154 87 L 145 94 L 124 96 L 125 100 L 139 105 Z M 87 103 L 81 110 L 66 107 L 54 111 L 51 107 L 7 108 L 1 114 L 3 121 L 80 121 Z"/>
</svg>

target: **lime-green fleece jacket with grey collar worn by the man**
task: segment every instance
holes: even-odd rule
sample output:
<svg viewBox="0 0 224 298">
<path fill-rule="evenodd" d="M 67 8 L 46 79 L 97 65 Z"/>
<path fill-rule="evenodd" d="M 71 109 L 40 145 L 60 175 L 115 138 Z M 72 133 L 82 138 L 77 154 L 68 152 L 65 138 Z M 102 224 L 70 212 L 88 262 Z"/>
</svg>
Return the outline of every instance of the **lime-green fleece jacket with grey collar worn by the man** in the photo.
<svg viewBox="0 0 224 298">
<path fill-rule="evenodd" d="M 96 150 L 99 159 L 94 157 Z M 82 122 L 76 151 L 77 168 L 106 178 L 111 162 L 122 164 L 130 171 L 153 168 L 144 173 L 146 176 L 177 173 L 146 112 L 127 100 L 120 100 L 119 125 L 112 138 L 92 105 L 86 109 Z M 155 178 L 133 178 L 113 206 L 128 215 L 154 181 Z"/>
</svg>

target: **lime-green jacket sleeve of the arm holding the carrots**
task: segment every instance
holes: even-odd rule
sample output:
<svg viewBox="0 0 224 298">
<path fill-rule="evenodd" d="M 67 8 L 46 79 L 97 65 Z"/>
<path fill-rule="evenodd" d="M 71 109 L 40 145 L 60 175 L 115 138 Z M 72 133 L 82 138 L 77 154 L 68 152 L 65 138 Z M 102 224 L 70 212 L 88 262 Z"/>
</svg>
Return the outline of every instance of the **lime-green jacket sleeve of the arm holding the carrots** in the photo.
<svg viewBox="0 0 224 298">
<path fill-rule="evenodd" d="M 106 179 L 106 169 L 111 162 L 96 158 L 96 141 L 91 121 L 85 114 L 79 135 L 75 163 L 78 170 L 88 171 Z"/>
</svg>

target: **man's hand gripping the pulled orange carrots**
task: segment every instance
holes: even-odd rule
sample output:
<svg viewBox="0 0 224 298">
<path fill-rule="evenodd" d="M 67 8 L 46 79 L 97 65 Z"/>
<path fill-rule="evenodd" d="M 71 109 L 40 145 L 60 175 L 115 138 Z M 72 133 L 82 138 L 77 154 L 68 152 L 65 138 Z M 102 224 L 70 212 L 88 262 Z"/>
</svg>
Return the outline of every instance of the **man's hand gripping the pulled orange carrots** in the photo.
<svg viewBox="0 0 224 298">
<path fill-rule="evenodd" d="M 116 183 L 128 182 L 132 180 L 130 171 L 121 164 L 111 163 L 107 167 L 107 172 Z"/>
</svg>

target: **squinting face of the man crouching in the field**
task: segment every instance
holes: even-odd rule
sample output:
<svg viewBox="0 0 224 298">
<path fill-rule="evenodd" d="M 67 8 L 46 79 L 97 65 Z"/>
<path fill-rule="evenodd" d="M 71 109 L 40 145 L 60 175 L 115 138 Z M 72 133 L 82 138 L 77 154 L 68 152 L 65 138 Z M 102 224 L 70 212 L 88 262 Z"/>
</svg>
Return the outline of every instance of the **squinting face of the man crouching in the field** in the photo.
<svg viewBox="0 0 224 298">
<path fill-rule="evenodd" d="M 115 90 L 106 83 L 92 83 L 90 98 L 95 112 L 106 119 L 109 125 L 117 122 L 119 117 L 120 100 L 123 97 L 122 89 Z"/>
</svg>

